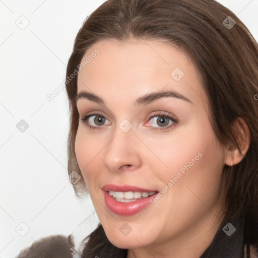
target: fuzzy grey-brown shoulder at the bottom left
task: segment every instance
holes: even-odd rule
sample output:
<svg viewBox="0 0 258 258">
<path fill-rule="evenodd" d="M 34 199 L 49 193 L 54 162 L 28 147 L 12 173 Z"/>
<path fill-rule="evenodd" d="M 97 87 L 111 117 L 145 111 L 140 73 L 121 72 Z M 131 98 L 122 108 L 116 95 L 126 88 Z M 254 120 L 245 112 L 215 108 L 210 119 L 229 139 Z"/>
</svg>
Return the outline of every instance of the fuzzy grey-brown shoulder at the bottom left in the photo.
<svg viewBox="0 0 258 258">
<path fill-rule="evenodd" d="M 40 238 L 30 247 L 22 250 L 16 258 L 72 258 L 71 242 L 69 237 L 64 235 L 51 235 Z"/>
</svg>

